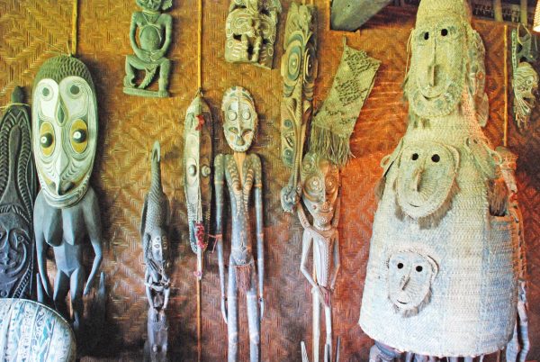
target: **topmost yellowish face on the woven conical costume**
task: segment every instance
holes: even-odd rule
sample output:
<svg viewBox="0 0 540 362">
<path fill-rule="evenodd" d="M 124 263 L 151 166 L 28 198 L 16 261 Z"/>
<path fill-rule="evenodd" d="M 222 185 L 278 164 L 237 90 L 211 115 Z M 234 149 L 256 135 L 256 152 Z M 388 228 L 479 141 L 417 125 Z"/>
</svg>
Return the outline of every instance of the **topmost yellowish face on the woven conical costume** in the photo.
<svg viewBox="0 0 540 362">
<path fill-rule="evenodd" d="M 455 15 L 430 17 L 412 32 L 412 57 L 405 87 L 420 117 L 455 111 L 464 91 L 466 29 Z"/>
</svg>

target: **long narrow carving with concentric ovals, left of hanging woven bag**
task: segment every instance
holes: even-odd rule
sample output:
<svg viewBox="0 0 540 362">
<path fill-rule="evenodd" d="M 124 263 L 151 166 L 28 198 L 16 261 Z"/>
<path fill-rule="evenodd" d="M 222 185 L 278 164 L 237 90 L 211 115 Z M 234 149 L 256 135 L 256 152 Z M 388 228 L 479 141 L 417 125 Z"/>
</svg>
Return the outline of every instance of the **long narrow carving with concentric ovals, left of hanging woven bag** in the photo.
<svg viewBox="0 0 540 362">
<path fill-rule="evenodd" d="M 293 213 L 302 190 L 300 167 L 306 128 L 311 119 L 317 77 L 317 11 L 312 5 L 291 3 L 285 25 L 285 53 L 281 63 L 284 97 L 281 105 L 282 159 L 292 168 L 281 192 L 284 211 Z"/>
</svg>

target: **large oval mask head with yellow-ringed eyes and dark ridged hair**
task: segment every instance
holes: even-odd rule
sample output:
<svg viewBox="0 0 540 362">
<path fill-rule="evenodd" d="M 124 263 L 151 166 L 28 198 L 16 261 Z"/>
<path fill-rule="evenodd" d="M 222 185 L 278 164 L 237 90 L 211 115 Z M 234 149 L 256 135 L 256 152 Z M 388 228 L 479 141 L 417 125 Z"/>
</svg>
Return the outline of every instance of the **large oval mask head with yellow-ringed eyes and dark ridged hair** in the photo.
<svg viewBox="0 0 540 362">
<path fill-rule="evenodd" d="M 58 56 L 41 66 L 32 95 L 32 147 L 41 190 L 54 207 L 76 204 L 94 166 L 97 103 L 88 68 Z"/>
</svg>

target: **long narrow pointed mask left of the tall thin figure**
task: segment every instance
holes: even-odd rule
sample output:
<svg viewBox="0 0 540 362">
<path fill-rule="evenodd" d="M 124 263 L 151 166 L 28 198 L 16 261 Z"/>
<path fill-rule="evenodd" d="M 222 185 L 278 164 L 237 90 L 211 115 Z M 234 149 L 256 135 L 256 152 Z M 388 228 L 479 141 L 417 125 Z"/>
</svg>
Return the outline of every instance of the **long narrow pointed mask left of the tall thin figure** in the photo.
<svg viewBox="0 0 540 362">
<path fill-rule="evenodd" d="M 189 242 L 197 254 L 202 277 L 202 253 L 208 247 L 211 216 L 211 110 L 199 94 L 187 109 L 184 128 L 184 191 Z"/>
</svg>

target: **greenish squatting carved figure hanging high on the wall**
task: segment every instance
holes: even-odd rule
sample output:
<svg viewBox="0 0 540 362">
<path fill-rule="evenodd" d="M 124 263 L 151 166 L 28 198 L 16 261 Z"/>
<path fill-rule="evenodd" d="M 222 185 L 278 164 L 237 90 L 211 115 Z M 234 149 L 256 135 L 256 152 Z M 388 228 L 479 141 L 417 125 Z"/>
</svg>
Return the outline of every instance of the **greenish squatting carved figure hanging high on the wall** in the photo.
<svg viewBox="0 0 540 362">
<path fill-rule="evenodd" d="M 173 18 L 170 14 L 162 14 L 173 5 L 172 0 L 136 0 L 142 12 L 135 12 L 131 17 L 130 44 L 134 55 L 126 56 L 126 77 L 124 77 L 124 93 L 148 97 L 168 96 L 168 77 L 171 61 L 166 59 L 172 40 Z M 138 32 L 139 31 L 139 32 Z M 137 41 L 139 35 L 139 42 Z M 144 79 L 135 86 L 135 70 L 144 70 Z M 145 90 L 159 69 L 159 90 Z"/>
</svg>

